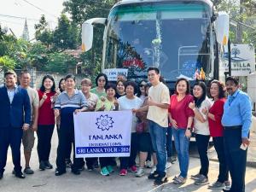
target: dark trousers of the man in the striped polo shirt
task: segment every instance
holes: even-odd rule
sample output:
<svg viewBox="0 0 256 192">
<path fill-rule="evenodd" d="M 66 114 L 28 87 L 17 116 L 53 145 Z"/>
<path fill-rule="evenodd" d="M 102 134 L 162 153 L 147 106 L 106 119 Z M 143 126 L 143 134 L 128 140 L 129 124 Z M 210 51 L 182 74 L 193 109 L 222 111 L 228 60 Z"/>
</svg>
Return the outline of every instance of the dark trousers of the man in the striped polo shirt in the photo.
<svg viewBox="0 0 256 192">
<path fill-rule="evenodd" d="M 73 151 L 75 152 L 75 140 L 74 140 L 74 129 L 73 125 L 61 125 L 60 127 L 60 139 L 57 148 L 57 158 L 56 166 L 59 172 L 66 171 L 66 151 L 70 143 L 73 143 Z M 83 164 L 83 158 L 75 158 L 75 153 L 73 153 L 73 166 L 71 167 L 73 171 L 77 171 Z"/>
</svg>

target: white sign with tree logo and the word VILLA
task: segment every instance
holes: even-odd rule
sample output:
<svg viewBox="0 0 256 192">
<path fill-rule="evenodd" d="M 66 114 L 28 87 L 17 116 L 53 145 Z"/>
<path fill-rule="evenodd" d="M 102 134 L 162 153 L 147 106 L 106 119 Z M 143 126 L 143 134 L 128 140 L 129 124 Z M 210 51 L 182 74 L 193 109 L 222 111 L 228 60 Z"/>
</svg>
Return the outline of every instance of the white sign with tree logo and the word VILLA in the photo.
<svg viewBox="0 0 256 192">
<path fill-rule="evenodd" d="M 226 47 L 225 50 L 228 48 Z M 225 71 L 228 71 L 228 54 L 225 53 Z M 249 44 L 231 44 L 231 75 L 248 76 L 255 72 L 254 48 Z"/>
</svg>

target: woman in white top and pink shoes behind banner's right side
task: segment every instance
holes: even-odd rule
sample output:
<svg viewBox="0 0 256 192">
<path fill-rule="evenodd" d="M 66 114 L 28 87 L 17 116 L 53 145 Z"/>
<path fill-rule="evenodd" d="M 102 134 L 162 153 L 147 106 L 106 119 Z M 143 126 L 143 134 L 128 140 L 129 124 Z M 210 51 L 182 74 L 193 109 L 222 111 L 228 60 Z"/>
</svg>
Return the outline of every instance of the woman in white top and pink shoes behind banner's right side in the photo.
<svg viewBox="0 0 256 192">
<path fill-rule="evenodd" d="M 125 96 L 119 98 L 119 110 L 131 110 L 141 108 L 143 101 L 135 96 L 137 92 L 137 84 L 135 82 L 127 82 L 125 84 Z M 138 135 L 136 132 L 137 116 L 135 113 L 132 115 L 132 126 L 131 126 L 131 155 L 130 157 L 120 157 L 120 176 L 127 174 L 127 169 L 130 168 L 131 172 L 137 172 L 136 167 L 136 156 L 138 148 Z"/>
</svg>

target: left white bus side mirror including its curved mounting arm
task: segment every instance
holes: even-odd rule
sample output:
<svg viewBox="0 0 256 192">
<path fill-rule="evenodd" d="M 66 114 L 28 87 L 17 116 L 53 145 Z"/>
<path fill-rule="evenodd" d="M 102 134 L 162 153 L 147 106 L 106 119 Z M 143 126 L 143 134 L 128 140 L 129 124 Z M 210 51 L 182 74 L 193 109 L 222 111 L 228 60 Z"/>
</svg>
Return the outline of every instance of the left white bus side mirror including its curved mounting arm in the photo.
<svg viewBox="0 0 256 192">
<path fill-rule="evenodd" d="M 93 40 L 93 25 L 102 24 L 106 25 L 106 18 L 92 18 L 90 20 L 85 20 L 82 25 L 82 50 L 88 51 L 91 49 Z"/>
</svg>

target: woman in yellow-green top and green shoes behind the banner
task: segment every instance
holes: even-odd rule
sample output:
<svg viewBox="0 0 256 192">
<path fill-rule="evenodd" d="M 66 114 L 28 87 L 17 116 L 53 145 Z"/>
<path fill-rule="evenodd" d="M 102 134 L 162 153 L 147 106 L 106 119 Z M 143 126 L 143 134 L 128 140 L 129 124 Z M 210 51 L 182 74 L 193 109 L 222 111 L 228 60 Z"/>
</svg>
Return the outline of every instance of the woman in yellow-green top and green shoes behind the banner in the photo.
<svg viewBox="0 0 256 192">
<path fill-rule="evenodd" d="M 96 103 L 96 111 L 114 111 L 119 109 L 119 102 L 115 96 L 115 84 L 107 84 L 106 86 L 107 97 L 99 99 Z M 113 157 L 100 157 L 101 174 L 103 176 L 109 176 L 113 172 L 111 166 Z"/>
</svg>

